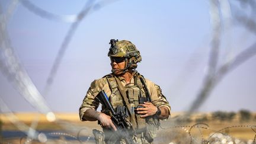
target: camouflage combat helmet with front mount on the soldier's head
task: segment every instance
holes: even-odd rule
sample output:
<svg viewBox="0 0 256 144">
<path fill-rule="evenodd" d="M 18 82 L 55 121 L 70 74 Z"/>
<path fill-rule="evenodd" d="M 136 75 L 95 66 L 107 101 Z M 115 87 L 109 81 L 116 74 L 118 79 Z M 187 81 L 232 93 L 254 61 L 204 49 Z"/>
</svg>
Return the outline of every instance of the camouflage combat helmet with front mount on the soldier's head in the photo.
<svg viewBox="0 0 256 144">
<path fill-rule="evenodd" d="M 124 57 L 126 62 L 126 68 L 123 73 L 129 69 L 136 69 L 137 63 L 141 62 L 142 57 L 140 56 L 139 50 L 136 46 L 127 40 L 110 40 L 110 49 L 108 52 L 109 57 Z"/>
</svg>

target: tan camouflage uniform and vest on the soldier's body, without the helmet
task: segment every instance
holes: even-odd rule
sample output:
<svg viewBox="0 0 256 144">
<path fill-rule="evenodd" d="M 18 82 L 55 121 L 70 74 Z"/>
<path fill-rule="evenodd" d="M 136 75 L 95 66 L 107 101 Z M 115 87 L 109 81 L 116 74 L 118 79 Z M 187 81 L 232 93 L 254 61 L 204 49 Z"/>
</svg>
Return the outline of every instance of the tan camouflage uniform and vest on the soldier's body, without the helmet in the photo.
<svg viewBox="0 0 256 144">
<path fill-rule="evenodd" d="M 142 97 L 146 97 L 145 91 L 142 88 L 142 83 L 138 78 L 140 76 L 139 73 L 133 72 L 133 75 L 134 76 L 131 79 L 130 84 L 126 84 L 126 81 L 121 76 L 118 77 L 121 81 L 121 84 L 126 89 L 127 94 L 129 95 L 130 106 L 132 108 L 139 105 L 138 99 L 140 94 L 142 95 Z M 168 101 L 166 100 L 164 95 L 162 95 L 161 88 L 148 79 L 145 79 L 145 81 L 146 87 L 148 87 L 149 94 L 151 95 L 152 104 L 156 107 L 165 106 L 168 108 L 169 111 L 171 111 L 171 107 L 169 106 Z M 95 110 L 97 110 L 99 102 L 94 98 L 101 90 L 104 90 L 105 93 L 108 95 L 110 103 L 113 105 L 114 108 L 116 108 L 117 105 L 124 105 L 124 102 L 120 95 L 120 91 L 117 88 L 117 82 L 114 80 L 113 75 L 110 74 L 104 76 L 104 78 L 93 81 L 91 83 L 91 87 L 89 87 L 88 89 L 87 95 L 85 96 L 83 103 L 79 109 L 80 119 L 82 121 L 85 121 L 85 119 L 83 119 L 83 116 L 84 112 L 88 110 L 88 108 L 94 108 Z M 107 111 L 104 111 L 104 109 L 102 110 L 102 112 L 110 115 Z M 147 139 L 153 139 L 156 136 L 158 121 L 155 121 L 155 119 L 148 119 L 147 121 L 145 121 L 145 119 L 140 118 L 139 114 L 136 113 L 133 113 L 132 117 L 135 117 L 136 119 L 136 121 L 132 124 L 133 128 L 135 128 L 135 130 L 138 132 L 138 143 L 140 143 L 141 141 L 143 141 L 141 143 L 148 143 Z M 129 117 L 131 122 L 132 117 Z"/>
</svg>

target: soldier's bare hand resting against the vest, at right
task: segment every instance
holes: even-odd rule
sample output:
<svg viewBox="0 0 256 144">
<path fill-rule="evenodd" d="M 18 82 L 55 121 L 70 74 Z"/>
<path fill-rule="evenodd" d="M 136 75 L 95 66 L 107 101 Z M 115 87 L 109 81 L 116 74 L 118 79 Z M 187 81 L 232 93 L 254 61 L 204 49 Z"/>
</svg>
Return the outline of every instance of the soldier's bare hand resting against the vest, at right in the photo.
<svg viewBox="0 0 256 144">
<path fill-rule="evenodd" d="M 137 108 L 137 113 L 143 114 L 142 116 L 140 116 L 142 118 L 153 116 L 158 110 L 157 107 L 152 103 L 144 102 L 144 104 L 139 105 L 143 106 L 143 108 Z"/>
</svg>

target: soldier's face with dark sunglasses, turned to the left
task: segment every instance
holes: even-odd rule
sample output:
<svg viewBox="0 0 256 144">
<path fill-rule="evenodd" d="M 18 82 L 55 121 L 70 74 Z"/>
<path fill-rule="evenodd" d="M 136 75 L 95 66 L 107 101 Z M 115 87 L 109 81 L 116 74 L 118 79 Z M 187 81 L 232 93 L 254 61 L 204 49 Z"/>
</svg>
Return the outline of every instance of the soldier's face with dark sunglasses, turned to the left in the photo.
<svg viewBox="0 0 256 144">
<path fill-rule="evenodd" d="M 126 66 L 125 59 L 123 57 L 110 57 L 111 67 L 114 70 L 114 74 L 120 75 Z"/>
</svg>

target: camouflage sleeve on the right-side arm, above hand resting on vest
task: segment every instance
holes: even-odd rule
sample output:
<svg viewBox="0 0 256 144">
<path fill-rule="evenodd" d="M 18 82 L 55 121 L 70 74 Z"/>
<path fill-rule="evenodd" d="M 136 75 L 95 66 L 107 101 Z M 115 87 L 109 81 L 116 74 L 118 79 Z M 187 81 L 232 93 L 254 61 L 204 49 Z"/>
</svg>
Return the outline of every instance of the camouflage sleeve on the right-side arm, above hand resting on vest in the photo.
<svg viewBox="0 0 256 144">
<path fill-rule="evenodd" d="M 169 102 L 167 101 L 167 98 L 162 94 L 162 89 L 154 84 L 152 81 L 145 79 L 146 85 L 149 89 L 149 93 L 151 95 L 151 102 L 156 107 L 167 107 L 169 110 L 169 114 L 171 113 L 171 106 L 169 105 Z"/>
</svg>

